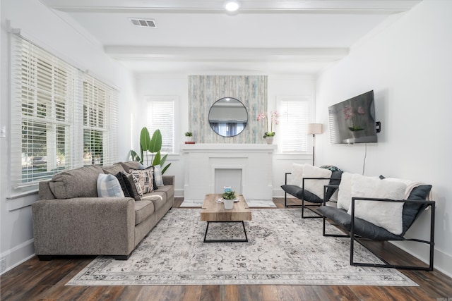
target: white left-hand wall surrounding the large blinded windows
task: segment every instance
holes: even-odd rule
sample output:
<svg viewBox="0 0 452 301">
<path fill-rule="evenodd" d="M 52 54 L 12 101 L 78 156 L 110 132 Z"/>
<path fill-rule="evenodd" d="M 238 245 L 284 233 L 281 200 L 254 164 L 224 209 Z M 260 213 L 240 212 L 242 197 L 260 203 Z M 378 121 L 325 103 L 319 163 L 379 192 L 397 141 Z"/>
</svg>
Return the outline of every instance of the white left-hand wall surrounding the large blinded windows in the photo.
<svg viewBox="0 0 452 301">
<path fill-rule="evenodd" d="M 130 149 L 131 113 L 136 109 L 133 77 L 119 63 L 107 58 L 100 44 L 76 24 L 64 22 L 38 0 L 1 0 L 1 102 L 0 125 L 7 126 L 7 137 L 0 139 L 0 217 L 1 259 L 7 270 L 32 256 L 32 202 L 37 194 L 7 199 L 9 195 L 9 43 L 6 20 L 20 28 L 21 35 L 81 70 L 116 87 L 119 91 L 119 158 L 128 157 Z"/>
</svg>

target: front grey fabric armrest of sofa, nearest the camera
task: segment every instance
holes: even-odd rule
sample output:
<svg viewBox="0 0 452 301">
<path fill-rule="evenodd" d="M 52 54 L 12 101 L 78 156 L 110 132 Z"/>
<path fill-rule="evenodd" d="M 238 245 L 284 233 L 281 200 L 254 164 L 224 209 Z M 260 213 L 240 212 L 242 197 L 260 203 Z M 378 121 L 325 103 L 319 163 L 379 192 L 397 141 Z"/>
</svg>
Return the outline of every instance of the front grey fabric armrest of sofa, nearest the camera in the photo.
<svg viewBox="0 0 452 301">
<path fill-rule="evenodd" d="M 128 255 L 134 247 L 130 197 L 44 199 L 32 204 L 37 255 Z"/>
</svg>

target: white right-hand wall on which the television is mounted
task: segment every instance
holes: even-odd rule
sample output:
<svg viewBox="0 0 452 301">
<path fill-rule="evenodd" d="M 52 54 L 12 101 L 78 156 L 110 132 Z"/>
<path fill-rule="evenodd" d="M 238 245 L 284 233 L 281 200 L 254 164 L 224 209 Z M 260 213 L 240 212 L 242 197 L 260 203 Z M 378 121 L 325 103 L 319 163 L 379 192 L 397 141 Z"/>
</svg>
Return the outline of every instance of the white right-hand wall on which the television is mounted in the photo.
<svg viewBox="0 0 452 301">
<path fill-rule="evenodd" d="M 365 174 L 406 178 L 433 185 L 436 200 L 435 268 L 452 275 L 451 83 L 452 1 L 422 1 L 352 47 L 317 82 L 317 118 L 328 124 L 328 106 L 374 90 L 377 144 L 367 145 Z M 364 145 L 317 140 L 320 164 L 362 173 Z M 410 236 L 428 238 L 429 214 Z M 427 260 L 427 248 L 401 244 Z"/>
</svg>

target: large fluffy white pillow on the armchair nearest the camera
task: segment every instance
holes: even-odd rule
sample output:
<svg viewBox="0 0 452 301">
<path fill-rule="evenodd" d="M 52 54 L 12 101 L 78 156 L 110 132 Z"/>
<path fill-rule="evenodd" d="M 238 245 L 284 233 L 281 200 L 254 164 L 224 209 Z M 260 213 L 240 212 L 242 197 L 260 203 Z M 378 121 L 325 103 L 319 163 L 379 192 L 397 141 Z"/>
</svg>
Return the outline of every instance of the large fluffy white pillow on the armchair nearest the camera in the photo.
<svg viewBox="0 0 452 301">
<path fill-rule="evenodd" d="M 361 175 L 352 176 L 352 197 L 376 197 L 379 199 L 403 199 L 407 185 L 391 180 L 380 180 Z M 348 210 L 351 214 L 352 208 Z M 387 231 L 400 235 L 402 228 L 403 203 L 355 201 L 355 216 Z"/>
</svg>

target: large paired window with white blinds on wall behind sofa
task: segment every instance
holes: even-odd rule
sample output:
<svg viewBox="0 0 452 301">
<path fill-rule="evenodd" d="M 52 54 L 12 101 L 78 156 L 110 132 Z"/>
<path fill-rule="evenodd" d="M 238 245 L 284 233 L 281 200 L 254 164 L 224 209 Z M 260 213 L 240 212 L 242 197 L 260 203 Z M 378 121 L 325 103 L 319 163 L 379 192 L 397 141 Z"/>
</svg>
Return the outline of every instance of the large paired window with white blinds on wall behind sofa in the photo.
<svg viewBox="0 0 452 301">
<path fill-rule="evenodd" d="M 13 189 L 82 166 L 86 147 L 115 161 L 117 91 L 16 35 L 11 50 Z"/>
</svg>

